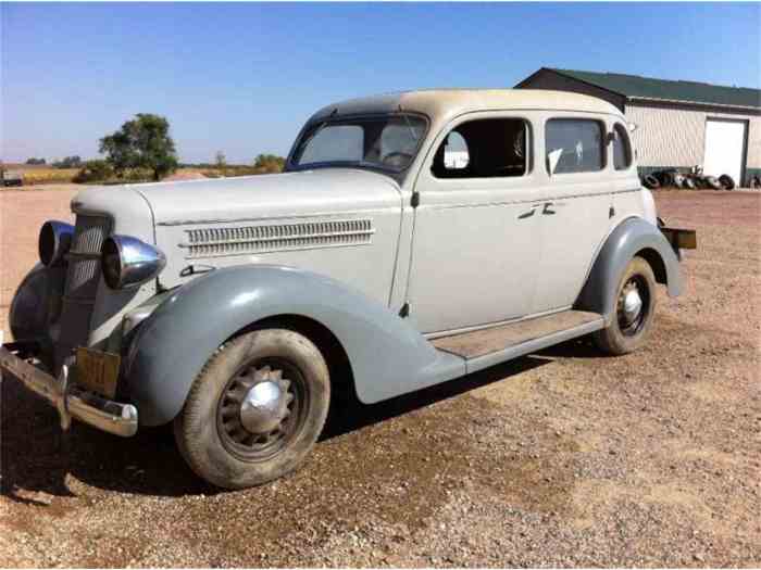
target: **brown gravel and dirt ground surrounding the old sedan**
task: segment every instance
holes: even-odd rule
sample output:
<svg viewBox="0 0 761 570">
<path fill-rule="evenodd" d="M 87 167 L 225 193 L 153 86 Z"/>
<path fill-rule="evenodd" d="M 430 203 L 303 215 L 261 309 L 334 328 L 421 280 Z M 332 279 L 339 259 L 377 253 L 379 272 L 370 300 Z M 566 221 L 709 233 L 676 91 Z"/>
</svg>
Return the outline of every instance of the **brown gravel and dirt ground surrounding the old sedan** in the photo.
<svg viewBox="0 0 761 570">
<path fill-rule="evenodd" d="M 578 341 L 351 404 L 263 487 L 199 483 L 167 430 L 62 439 L 3 382 L 0 566 L 761 565 L 761 194 L 657 200 L 700 249 L 644 351 Z M 11 249 L 55 210 L 8 204 Z"/>
</svg>

